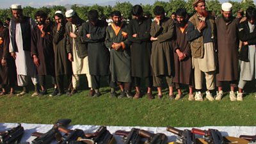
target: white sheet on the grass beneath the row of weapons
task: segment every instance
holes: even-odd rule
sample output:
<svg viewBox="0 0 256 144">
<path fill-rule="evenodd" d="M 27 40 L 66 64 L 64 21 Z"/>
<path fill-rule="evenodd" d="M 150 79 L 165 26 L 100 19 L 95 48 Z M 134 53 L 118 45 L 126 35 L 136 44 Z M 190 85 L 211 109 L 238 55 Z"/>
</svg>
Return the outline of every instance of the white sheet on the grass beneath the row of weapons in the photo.
<svg viewBox="0 0 256 144">
<path fill-rule="evenodd" d="M 22 127 L 25 129 L 24 136 L 22 137 L 21 142 L 31 142 L 35 139 L 34 136 L 31 136 L 32 132 L 47 132 L 49 129 L 52 128 L 52 125 L 50 124 L 21 124 Z M 12 127 L 16 127 L 17 124 L 13 123 L 0 123 L 0 131 L 8 130 Z M 70 125 L 68 129 L 82 129 L 85 133 L 87 132 L 95 132 L 100 126 L 99 125 Z M 124 130 L 124 131 L 130 131 L 133 127 L 117 127 L 117 126 L 107 126 L 107 129 L 112 134 L 117 130 Z M 166 134 L 168 136 L 169 141 L 175 141 L 176 136 L 175 134 L 172 134 L 171 132 L 166 131 L 166 127 L 136 127 L 138 129 L 144 129 L 146 131 L 150 132 L 161 132 Z M 177 129 L 191 129 L 192 127 L 176 127 Z M 256 126 L 253 127 L 244 127 L 244 126 L 232 126 L 232 127 L 215 127 L 215 126 L 207 126 L 207 127 L 195 127 L 198 129 L 218 129 L 223 136 L 240 136 L 241 134 L 246 135 L 255 135 L 256 134 Z M 122 138 L 120 136 L 116 136 L 116 142 L 118 144 L 122 144 Z M 53 141 L 52 143 L 56 143 L 56 141 Z"/>
</svg>

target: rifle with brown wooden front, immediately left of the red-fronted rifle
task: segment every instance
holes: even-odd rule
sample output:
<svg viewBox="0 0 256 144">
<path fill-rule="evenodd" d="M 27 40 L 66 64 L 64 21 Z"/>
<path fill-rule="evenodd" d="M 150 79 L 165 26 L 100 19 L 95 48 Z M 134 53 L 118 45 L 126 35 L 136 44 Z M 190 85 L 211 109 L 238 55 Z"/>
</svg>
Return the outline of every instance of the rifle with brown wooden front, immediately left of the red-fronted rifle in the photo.
<svg viewBox="0 0 256 144">
<path fill-rule="evenodd" d="M 172 132 L 176 134 L 178 143 L 182 144 L 192 144 L 195 142 L 195 134 L 193 134 L 190 130 L 184 129 L 183 131 L 180 129 L 175 129 L 174 127 L 167 127 L 166 131 Z"/>
</svg>

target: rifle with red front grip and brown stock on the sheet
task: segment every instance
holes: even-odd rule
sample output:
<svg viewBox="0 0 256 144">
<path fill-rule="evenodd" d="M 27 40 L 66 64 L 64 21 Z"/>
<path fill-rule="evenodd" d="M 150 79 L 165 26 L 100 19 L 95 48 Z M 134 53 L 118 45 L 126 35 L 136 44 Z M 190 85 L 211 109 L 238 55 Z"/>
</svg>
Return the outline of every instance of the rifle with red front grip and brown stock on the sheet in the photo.
<svg viewBox="0 0 256 144">
<path fill-rule="evenodd" d="M 248 144 L 250 141 L 244 140 L 243 138 L 236 138 L 232 136 L 222 136 L 220 131 L 217 129 L 208 129 L 208 131 L 195 129 L 191 130 L 194 134 L 199 134 L 204 136 L 204 140 L 207 143 L 211 144 L 224 144 L 224 143 L 236 143 L 236 144 Z M 205 143 L 204 141 L 200 141 L 201 143 Z"/>
</svg>

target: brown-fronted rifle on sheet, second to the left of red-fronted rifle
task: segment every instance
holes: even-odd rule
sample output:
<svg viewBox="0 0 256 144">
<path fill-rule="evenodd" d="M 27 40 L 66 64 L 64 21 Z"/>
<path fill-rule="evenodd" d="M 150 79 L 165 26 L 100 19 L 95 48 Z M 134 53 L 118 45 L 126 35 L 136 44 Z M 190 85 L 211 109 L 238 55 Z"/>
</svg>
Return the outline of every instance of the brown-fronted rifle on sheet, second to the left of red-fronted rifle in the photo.
<svg viewBox="0 0 256 144">
<path fill-rule="evenodd" d="M 152 134 L 148 131 L 140 129 L 139 135 L 142 136 L 143 138 L 147 138 L 147 141 L 145 141 L 145 143 L 147 144 L 167 144 L 168 143 L 167 142 L 168 138 L 163 133 Z"/>
</svg>

